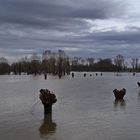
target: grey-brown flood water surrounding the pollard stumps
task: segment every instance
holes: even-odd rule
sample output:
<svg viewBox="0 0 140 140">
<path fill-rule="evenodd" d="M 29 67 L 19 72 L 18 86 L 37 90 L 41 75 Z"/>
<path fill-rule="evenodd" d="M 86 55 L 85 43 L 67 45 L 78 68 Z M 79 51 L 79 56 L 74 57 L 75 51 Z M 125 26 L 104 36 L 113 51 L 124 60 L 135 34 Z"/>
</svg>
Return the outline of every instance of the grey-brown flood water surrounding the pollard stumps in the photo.
<svg viewBox="0 0 140 140">
<path fill-rule="evenodd" d="M 75 73 L 58 79 L 43 75 L 0 76 L 1 140 L 140 140 L 140 74 Z M 58 101 L 44 117 L 39 90 L 48 88 Z M 115 88 L 126 88 L 116 102 Z"/>
</svg>

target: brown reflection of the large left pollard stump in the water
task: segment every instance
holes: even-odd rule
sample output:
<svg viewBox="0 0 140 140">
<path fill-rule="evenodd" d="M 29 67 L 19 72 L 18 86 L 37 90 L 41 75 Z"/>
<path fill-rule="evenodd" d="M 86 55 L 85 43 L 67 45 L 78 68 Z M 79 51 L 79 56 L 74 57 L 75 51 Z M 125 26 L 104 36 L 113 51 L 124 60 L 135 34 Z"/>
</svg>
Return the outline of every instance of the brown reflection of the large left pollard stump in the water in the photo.
<svg viewBox="0 0 140 140">
<path fill-rule="evenodd" d="M 46 137 L 55 133 L 57 124 L 52 120 L 52 114 L 44 115 L 43 122 L 39 127 L 40 137 Z"/>
</svg>

